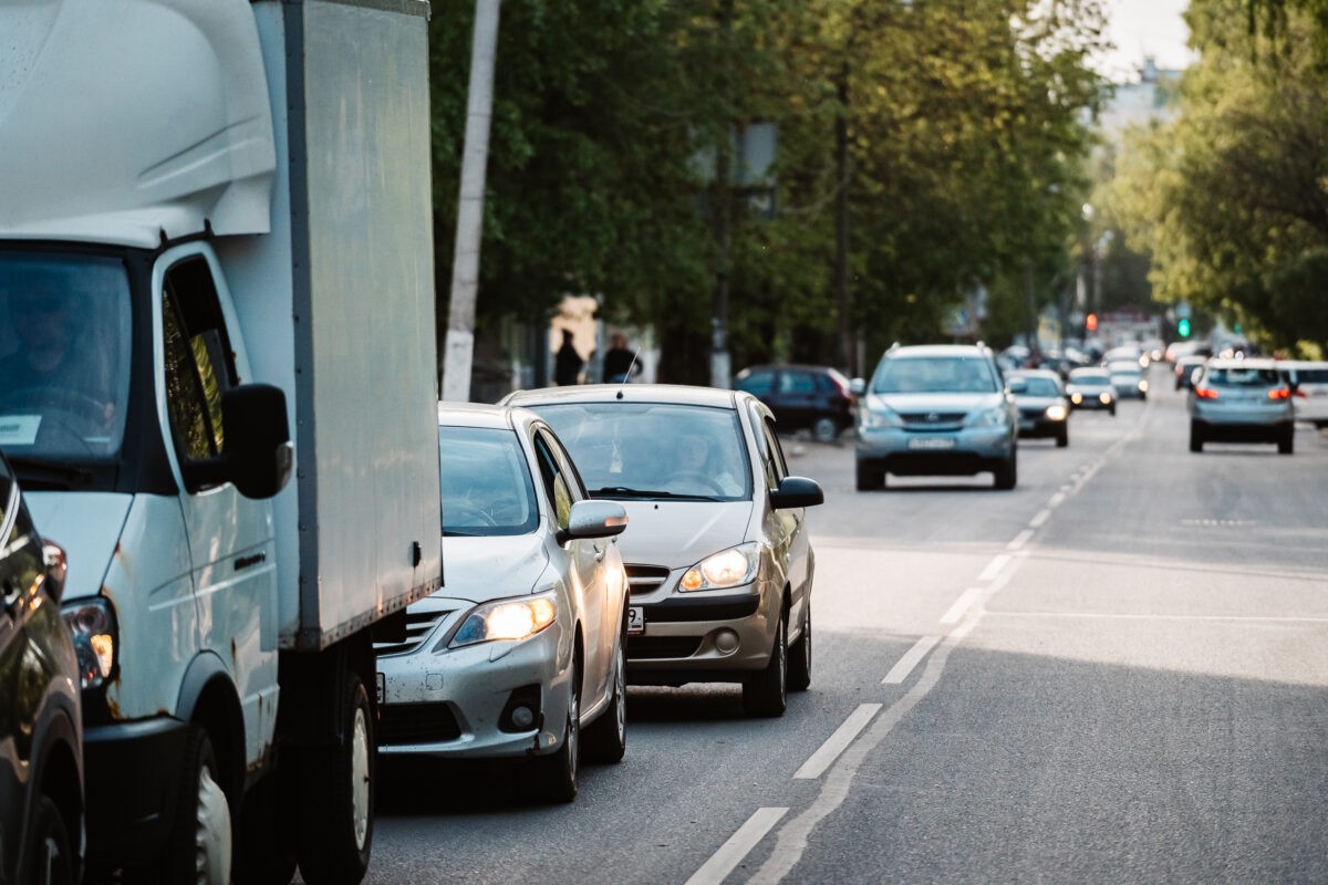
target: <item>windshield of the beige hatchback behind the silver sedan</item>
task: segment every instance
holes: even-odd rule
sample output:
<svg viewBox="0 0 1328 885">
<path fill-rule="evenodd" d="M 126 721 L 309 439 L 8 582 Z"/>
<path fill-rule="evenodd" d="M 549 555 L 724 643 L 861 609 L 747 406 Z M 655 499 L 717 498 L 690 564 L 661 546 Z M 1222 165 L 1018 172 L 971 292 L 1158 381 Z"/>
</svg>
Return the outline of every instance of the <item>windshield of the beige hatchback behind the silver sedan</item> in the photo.
<svg viewBox="0 0 1328 885">
<path fill-rule="evenodd" d="M 595 498 L 752 498 L 742 430 L 729 409 L 603 402 L 535 410 Z"/>
</svg>

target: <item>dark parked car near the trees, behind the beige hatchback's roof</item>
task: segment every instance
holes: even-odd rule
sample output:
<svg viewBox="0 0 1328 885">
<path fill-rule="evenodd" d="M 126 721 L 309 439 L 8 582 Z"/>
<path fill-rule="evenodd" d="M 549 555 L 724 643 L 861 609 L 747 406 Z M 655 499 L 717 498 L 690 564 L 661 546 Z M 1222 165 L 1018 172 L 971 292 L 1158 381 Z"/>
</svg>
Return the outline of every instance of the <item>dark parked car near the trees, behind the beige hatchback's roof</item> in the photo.
<svg viewBox="0 0 1328 885">
<path fill-rule="evenodd" d="M 830 442 L 853 426 L 849 379 L 830 366 L 752 366 L 733 378 L 733 389 L 764 402 L 781 433 L 810 430 Z"/>
</svg>

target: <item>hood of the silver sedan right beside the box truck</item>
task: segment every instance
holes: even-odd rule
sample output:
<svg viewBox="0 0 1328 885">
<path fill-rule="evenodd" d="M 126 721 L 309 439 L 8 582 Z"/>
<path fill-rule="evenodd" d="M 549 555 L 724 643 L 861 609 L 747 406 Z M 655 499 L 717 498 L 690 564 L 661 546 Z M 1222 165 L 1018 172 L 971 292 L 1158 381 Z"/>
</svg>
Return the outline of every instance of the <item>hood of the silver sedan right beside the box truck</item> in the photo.
<svg viewBox="0 0 1328 885">
<path fill-rule="evenodd" d="M 544 536 L 442 539 L 442 588 L 433 596 L 487 602 L 539 589 L 548 567 Z"/>
</svg>

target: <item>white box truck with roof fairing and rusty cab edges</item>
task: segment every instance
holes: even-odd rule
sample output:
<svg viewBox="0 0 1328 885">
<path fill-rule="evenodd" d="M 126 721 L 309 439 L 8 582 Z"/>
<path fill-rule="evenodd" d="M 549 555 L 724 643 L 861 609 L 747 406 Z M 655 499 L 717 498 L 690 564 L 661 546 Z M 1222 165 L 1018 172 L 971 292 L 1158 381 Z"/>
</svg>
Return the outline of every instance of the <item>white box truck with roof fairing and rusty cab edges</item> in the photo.
<svg viewBox="0 0 1328 885">
<path fill-rule="evenodd" d="M 68 551 L 90 868 L 357 882 L 438 589 L 426 0 L 0 4 L 0 447 Z"/>
</svg>

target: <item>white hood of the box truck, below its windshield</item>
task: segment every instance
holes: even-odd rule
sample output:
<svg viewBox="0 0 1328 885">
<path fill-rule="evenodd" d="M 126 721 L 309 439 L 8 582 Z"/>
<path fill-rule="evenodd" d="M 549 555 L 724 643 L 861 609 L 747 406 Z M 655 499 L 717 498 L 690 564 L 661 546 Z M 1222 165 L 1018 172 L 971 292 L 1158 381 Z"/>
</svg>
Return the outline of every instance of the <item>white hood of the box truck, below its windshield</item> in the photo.
<svg viewBox="0 0 1328 885">
<path fill-rule="evenodd" d="M 96 596 L 120 544 L 133 495 L 110 492 L 24 492 L 37 531 L 60 544 L 69 560 L 66 600 Z"/>
</svg>

